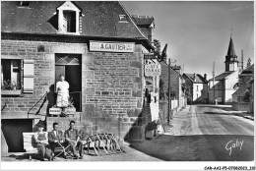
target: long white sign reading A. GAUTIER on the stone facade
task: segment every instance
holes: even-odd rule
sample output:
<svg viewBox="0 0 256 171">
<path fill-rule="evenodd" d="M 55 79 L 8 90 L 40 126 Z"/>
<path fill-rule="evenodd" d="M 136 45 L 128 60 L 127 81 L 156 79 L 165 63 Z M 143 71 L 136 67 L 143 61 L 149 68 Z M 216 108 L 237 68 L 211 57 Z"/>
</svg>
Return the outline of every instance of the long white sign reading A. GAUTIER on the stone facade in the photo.
<svg viewBox="0 0 256 171">
<path fill-rule="evenodd" d="M 134 52 L 134 42 L 90 41 L 90 51 Z"/>
</svg>

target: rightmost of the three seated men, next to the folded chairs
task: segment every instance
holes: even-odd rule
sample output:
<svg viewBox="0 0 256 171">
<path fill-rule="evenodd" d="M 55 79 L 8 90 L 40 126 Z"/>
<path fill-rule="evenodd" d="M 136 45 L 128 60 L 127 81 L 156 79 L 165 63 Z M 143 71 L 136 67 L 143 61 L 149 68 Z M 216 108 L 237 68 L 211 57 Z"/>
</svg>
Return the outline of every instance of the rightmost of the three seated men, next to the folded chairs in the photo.
<svg viewBox="0 0 256 171">
<path fill-rule="evenodd" d="M 65 132 L 64 137 L 66 139 L 66 145 L 71 144 L 71 151 L 75 157 L 75 159 L 78 159 L 78 152 L 76 147 L 79 149 L 80 158 L 83 159 L 84 156 L 84 147 L 83 143 L 80 141 L 78 130 L 74 128 L 75 127 L 75 121 L 70 121 L 69 129 Z"/>
</svg>

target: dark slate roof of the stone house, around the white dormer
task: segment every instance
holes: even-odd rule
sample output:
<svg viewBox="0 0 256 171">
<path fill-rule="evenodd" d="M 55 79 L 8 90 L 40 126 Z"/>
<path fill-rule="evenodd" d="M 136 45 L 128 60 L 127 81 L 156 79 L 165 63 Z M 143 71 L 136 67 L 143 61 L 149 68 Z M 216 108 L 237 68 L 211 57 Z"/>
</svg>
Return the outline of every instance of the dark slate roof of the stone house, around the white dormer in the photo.
<svg viewBox="0 0 256 171">
<path fill-rule="evenodd" d="M 2 32 L 57 33 L 57 7 L 64 1 L 31 1 L 30 8 L 18 8 L 15 1 L 1 2 Z M 76 1 L 82 11 L 84 36 L 146 39 L 128 12 L 117 1 Z M 128 23 L 120 23 L 119 15 L 127 15 Z"/>
</svg>

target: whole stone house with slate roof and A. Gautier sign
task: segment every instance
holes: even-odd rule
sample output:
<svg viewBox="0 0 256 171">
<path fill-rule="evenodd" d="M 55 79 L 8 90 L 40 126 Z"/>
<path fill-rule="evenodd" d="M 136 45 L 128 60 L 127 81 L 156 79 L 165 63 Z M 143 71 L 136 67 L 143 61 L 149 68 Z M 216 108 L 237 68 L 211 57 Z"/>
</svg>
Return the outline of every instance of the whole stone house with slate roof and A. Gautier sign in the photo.
<svg viewBox="0 0 256 171">
<path fill-rule="evenodd" d="M 1 2 L 1 30 L 1 135 L 9 152 L 23 151 L 22 133 L 39 121 L 47 131 L 75 120 L 90 135 L 143 139 L 151 121 L 143 112 L 143 51 L 153 47 L 121 3 Z M 60 74 L 70 84 L 74 117 L 46 117 Z"/>
</svg>

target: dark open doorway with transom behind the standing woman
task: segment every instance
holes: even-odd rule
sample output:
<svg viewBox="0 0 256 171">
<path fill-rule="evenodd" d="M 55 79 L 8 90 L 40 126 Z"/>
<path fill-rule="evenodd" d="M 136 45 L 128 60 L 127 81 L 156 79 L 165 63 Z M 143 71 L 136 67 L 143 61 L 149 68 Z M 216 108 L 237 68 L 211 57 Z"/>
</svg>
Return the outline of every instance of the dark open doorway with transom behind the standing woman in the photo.
<svg viewBox="0 0 256 171">
<path fill-rule="evenodd" d="M 69 83 L 69 95 L 78 112 L 82 110 L 82 67 L 81 54 L 55 54 L 55 84 L 64 75 Z"/>
</svg>

